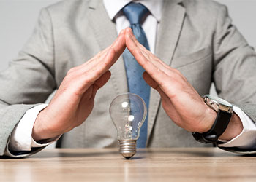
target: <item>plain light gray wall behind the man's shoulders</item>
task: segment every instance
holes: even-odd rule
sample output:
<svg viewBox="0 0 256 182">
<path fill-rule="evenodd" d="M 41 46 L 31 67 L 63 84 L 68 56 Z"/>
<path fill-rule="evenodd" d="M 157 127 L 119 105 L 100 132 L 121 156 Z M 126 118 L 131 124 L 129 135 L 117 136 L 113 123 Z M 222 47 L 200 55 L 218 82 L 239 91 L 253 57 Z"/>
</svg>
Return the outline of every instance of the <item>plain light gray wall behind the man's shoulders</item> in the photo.
<svg viewBox="0 0 256 182">
<path fill-rule="evenodd" d="M 16 58 L 29 39 L 39 10 L 56 1 L 59 0 L 0 0 L 0 71 L 7 68 L 8 62 Z M 233 23 L 244 34 L 249 44 L 256 47 L 256 1 L 217 1 L 227 4 Z"/>
</svg>

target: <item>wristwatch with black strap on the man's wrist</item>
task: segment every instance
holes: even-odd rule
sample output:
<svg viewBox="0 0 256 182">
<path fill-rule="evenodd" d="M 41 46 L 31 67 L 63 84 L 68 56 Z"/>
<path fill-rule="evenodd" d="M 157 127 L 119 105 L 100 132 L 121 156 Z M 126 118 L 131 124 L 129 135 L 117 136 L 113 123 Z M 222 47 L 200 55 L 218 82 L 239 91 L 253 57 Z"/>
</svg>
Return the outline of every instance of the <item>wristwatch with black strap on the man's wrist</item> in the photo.
<svg viewBox="0 0 256 182">
<path fill-rule="evenodd" d="M 214 95 L 204 95 L 203 101 L 207 106 L 217 112 L 217 117 L 214 125 L 210 130 L 208 130 L 208 132 L 192 132 L 192 135 L 201 143 L 213 143 L 214 146 L 217 146 L 217 144 L 222 143 L 221 141 L 218 141 L 218 138 L 223 132 L 225 132 L 227 125 L 230 122 L 233 114 L 233 106 L 226 100 Z"/>
</svg>

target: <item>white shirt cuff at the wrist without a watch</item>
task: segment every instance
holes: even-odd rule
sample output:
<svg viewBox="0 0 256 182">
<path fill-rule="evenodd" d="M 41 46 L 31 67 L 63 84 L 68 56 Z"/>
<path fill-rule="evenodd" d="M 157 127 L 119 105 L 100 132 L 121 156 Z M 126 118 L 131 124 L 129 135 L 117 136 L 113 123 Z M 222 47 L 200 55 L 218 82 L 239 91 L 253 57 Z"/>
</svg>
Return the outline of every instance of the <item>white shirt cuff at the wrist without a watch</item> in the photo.
<svg viewBox="0 0 256 182">
<path fill-rule="evenodd" d="M 20 122 L 12 131 L 8 149 L 10 151 L 31 151 L 31 147 L 47 146 L 49 143 L 38 144 L 32 138 L 32 130 L 34 122 L 40 111 L 42 111 L 48 104 L 41 104 L 26 111 Z"/>
</svg>

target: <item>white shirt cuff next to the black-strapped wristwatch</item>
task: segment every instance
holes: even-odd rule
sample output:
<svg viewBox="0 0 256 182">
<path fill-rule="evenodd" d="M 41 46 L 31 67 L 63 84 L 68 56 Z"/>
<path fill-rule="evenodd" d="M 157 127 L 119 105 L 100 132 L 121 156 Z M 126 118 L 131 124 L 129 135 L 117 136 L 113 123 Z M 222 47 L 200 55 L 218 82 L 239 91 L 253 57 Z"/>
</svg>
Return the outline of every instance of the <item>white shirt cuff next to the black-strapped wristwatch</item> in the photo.
<svg viewBox="0 0 256 182">
<path fill-rule="evenodd" d="M 241 108 L 233 107 L 233 111 L 239 116 L 243 124 L 243 131 L 227 143 L 219 144 L 220 147 L 237 147 L 240 149 L 253 149 L 256 146 L 255 122 L 247 116 Z"/>
</svg>

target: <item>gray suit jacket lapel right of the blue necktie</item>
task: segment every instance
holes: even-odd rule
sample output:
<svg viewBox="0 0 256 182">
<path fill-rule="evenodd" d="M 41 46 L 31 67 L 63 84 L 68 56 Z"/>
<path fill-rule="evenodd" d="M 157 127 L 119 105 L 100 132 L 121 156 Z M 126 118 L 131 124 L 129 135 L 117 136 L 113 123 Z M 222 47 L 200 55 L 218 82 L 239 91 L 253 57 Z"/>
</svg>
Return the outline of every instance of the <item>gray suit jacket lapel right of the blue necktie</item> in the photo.
<svg viewBox="0 0 256 182">
<path fill-rule="evenodd" d="M 181 1 L 165 1 L 163 12 L 157 33 L 156 55 L 170 65 L 173 54 L 178 44 L 178 38 L 184 22 L 185 9 L 179 4 Z M 154 122 L 159 110 L 160 95 L 156 90 L 151 89 L 151 97 L 148 111 L 148 138 L 154 127 Z M 148 140 L 149 141 L 149 140 Z"/>
</svg>

